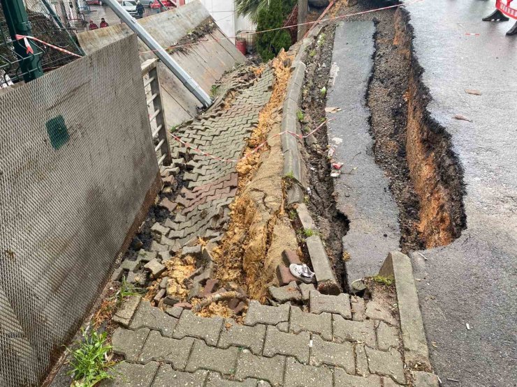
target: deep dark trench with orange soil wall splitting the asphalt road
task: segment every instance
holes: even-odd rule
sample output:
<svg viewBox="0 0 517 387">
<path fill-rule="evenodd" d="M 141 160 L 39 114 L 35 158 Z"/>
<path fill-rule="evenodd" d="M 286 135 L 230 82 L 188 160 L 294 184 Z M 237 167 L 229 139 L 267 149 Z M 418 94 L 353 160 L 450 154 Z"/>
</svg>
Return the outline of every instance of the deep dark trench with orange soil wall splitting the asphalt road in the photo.
<svg viewBox="0 0 517 387">
<path fill-rule="evenodd" d="M 463 170 L 446 128 L 434 121 L 413 54 L 409 13 L 374 19 L 374 68 L 367 91 L 377 164 L 399 208 L 402 251 L 448 245 L 466 227 Z"/>
</svg>

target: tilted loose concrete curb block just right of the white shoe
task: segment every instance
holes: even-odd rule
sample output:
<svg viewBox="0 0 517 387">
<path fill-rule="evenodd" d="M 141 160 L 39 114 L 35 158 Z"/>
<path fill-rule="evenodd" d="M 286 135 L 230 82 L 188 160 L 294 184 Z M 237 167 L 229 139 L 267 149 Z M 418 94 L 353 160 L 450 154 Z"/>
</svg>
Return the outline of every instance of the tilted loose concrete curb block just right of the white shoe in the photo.
<svg viewBox="0 0 517 387">
<path fill-rule="evenodd" d="M 318 290 L 323 294 L 340 294 L 340 285 L 337 283 L 332 264 L 319 236 L 310 236 L 305 239 L 305 244 L 316 274 Z"/>
</svg>

